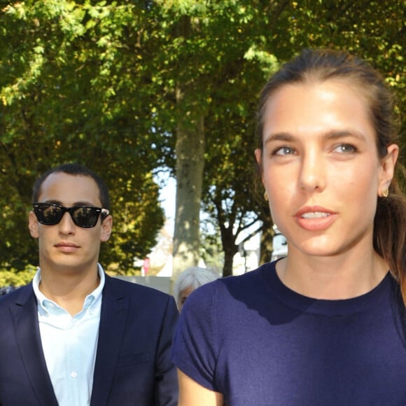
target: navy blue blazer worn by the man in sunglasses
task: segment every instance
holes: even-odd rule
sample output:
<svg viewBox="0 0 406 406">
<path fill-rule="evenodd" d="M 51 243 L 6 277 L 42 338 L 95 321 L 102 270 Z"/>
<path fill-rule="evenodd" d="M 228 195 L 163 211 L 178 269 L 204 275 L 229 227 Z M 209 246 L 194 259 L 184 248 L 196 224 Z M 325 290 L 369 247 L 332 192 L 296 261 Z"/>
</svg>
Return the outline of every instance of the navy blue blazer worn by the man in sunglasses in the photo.
<svg viewBox="0 0 406 406">
<path fill-rule="evenodd" d="M 177 405 L 174 298 L 106 275 L 90 406 Z M 0 406 L 57 406 L 31 283 L 0 297 Z"/>
</svg>

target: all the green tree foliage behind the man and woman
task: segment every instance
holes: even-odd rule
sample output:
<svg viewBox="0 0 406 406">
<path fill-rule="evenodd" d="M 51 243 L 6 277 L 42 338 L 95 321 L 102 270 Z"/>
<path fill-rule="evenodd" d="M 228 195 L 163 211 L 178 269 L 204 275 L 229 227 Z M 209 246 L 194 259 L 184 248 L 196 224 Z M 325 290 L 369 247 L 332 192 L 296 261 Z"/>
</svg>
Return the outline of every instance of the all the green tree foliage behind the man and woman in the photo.
<svg viewBox="0 0 406 406">
<path fill-rule="evenodd" d="M 190 202 L 202 200 L 218 224 L 223 273 L 230 274 L 241 234 L 256 223 L 272 225 L 264 202 L 251 193 L 262 85 L 302 48 L 346 48 L 381 71 L 397 94 L 398 111 L 405 111 L 404 14 L 400 0 L 1 6 L 4 261 L 33 263 L 35 244 L 27 242 L 25 224 L 31 183 L 48 167 L 76 160 L 100 172 L 112 190 L 116 232 L 102 255 L 130 267 L 132 255 L 146 255 L 162 224 L 151 172 L 166 165 L 177 171 L 178 187 L 193 186 L 192 195 L 177 202 L 179 227 L 198 226 Z M 179 134 L 189 143 L 181 167 Z M 188 176 L 193 172 L 200 178 Z M 189 239 L 190 250 L 198 251 L 190 241 L 195 234 L 178 233 L 175 239 Z"/>
</svg>

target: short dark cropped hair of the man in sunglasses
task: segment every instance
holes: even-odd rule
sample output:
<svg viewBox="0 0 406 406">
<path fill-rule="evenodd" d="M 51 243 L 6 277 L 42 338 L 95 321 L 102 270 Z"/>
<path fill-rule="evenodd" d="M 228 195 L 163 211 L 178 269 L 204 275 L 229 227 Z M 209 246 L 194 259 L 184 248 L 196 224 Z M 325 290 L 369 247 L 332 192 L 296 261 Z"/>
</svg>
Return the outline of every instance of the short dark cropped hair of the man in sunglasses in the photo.
<svg viewBox="0 0 406 406">
<path fill-rule="evenodd" d="M 34 187 L 32 188 L 32 202 L 38 202 L 39 195 L 41 193 L 41 186 L 45 179 L 48 178 L 51 174 L 69 174 L 73 176 L 89 176 L 92 178 L 99 188 L 99 198 L 100 202 L 102 202 L 103 209 L 110 210 L 110 197 L 109 197 L 109 189 L 106 186 L 106 183 L 102 180 L 102 178 L 94 173 L 92 170 L 83 167 L 83 165 L 69 163 L 59 165 L 58 167 L 49 169 L 48 172 L 41 175 L 34 183 Z"/>
</svg>

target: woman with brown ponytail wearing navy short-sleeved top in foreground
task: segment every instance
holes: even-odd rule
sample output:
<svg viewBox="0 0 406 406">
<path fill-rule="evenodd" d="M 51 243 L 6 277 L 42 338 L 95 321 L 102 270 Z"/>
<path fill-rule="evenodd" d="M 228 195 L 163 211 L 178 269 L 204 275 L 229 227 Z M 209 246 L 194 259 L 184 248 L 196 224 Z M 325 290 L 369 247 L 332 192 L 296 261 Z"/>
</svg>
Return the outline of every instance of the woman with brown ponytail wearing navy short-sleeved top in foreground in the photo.
<svg viewBox="0 0 406 406">
<path fill-rule="evenodd" d="M 391 92 L 358 57 L 305 50 L 268 81 L 255 158 L 288 255 L 190 295 L 179 405 L 406 404 L 399 145 Z"/>
</svg>

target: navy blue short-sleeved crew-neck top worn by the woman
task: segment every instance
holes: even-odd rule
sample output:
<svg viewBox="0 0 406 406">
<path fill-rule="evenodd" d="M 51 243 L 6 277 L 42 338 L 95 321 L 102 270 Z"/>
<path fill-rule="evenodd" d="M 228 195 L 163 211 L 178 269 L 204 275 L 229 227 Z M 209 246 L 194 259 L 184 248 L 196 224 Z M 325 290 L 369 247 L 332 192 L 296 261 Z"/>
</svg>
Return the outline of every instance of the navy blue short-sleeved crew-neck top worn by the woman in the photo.
<svg viewBox="0 0 406 406">
<path fill-rule="evenodd" d="M 225 405 L 406 405 L 404 311 L 397 283 L 314 300 L 275 263 L 193 292 L 173 347 L 177 367 Z"/>
</svg>

